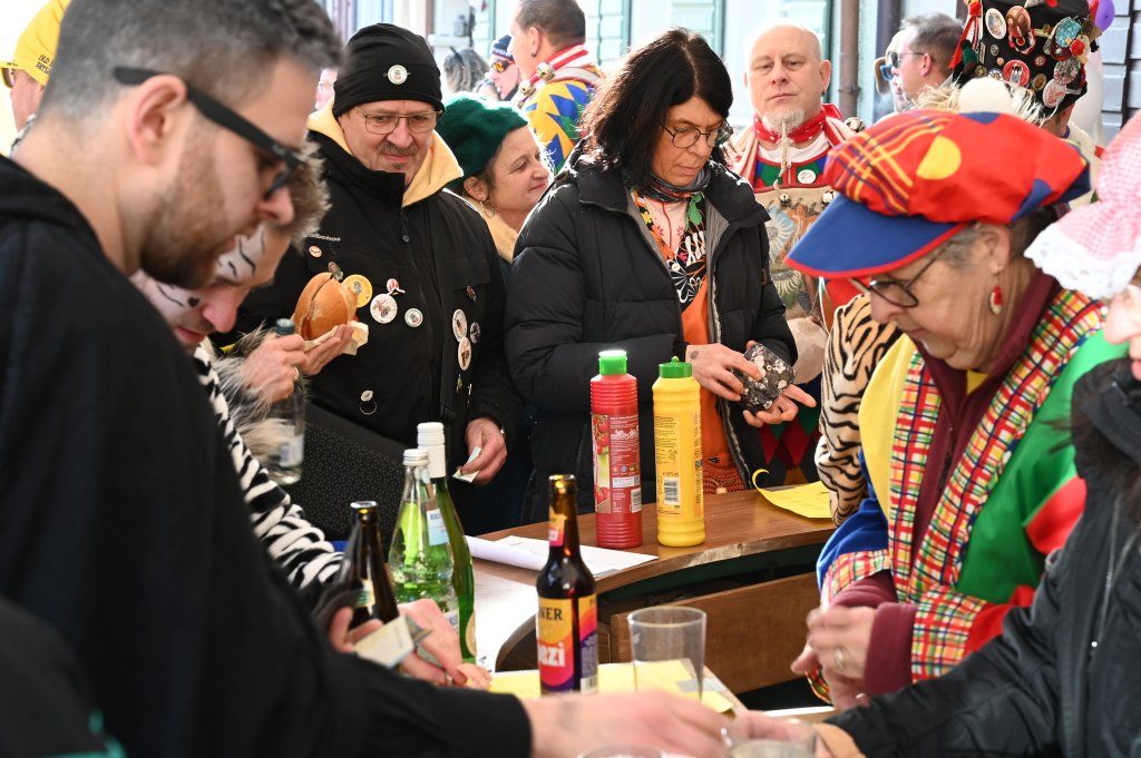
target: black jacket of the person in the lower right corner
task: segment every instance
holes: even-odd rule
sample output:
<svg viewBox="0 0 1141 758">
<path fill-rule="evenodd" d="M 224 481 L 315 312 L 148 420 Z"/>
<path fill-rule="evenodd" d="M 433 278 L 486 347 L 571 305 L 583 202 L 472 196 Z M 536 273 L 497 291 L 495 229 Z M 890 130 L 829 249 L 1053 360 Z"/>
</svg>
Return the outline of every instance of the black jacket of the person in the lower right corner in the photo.
<svg viewBox="0 0 1141 758">
<path fill-rule="evenodd" d="M 1141 384 L 1124 372 L 1110 381 L 1110 373 L 1106 366 L 1094 369 L 1075 389 L 1076 398 L 1093 392 L 1076 404 L 1076 415 L 1103 434 L 1102 449 L 1075 437 L 1077 470 L 1089 487 L 1085 512 L 1047 564 L 1034 604 L 1011 611 L 1002 636 L 946 676 L 831 719 L 866 756 L 1141 753 L 1141 677 L 1133 668 L 1141 667 L 1135 541 L 1106 601 L 1109 562 L 1123 559 L 1141 519 L 1141 506 L 1122 498 L 1112 530 L 1120 494 L 1109 481 L 1112 467 L 1141 465 Z M 1076 425 L 1082 423 L 1077 417 Z"/>
</svg>

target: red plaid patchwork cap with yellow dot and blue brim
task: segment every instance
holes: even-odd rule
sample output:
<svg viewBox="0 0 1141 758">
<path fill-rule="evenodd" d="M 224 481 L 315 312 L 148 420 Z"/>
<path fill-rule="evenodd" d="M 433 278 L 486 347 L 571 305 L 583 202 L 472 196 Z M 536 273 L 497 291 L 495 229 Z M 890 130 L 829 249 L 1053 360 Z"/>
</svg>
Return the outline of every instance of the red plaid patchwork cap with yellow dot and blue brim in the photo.
<svg viewBox="0 0 1141 758">
<path fill-rule="evenodd" d="M 1010 223 L 1090 191 L 1069 142 L 998 113 L 908 111 L 837 146 L 836 193 L 788 253 L 794 269 L 863 277 L 906 266 L 974 221 Z"/>
</svg>

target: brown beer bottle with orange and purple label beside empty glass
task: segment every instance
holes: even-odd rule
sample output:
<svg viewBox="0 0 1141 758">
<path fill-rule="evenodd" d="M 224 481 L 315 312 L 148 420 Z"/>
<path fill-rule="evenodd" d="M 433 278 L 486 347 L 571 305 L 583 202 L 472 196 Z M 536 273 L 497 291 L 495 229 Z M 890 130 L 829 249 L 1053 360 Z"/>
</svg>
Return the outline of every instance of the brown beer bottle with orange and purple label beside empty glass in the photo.
<svg viewBox="0 0 1141 758">
<path fill-rule="evenodd" d="M 578 551 L 577 487 L 551 476 L 550 556 L 539 572 L 539 680 L 542 693 L 598 691 L 598 597 Z"/>
</svg>

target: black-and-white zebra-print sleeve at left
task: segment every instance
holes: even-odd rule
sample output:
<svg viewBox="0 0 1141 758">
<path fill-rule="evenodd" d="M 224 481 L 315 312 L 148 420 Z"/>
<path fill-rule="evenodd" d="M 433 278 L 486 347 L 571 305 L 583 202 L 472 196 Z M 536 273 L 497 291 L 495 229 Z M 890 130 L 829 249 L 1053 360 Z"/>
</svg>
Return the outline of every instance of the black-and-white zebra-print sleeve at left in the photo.
<svg viewBox="0 0 1141 758">
<path fill-rule="evenodd" d="M 250 454 L 230 421 L 229 406 L 218 386 L 218 374 L 201 347 L 194 351 L 194 364 L 229 447 L 245 503 L 250 506 L 254 536 L 269 551 L 269 557 L 285 570 L 297 589 L 314 581 L 332 581 L 341 554 L 325 540 L 319 529 L 306 521 L 305 512 L 290 503 L 285 490 L 269 479 L 266 470 Z"/>
</svg>

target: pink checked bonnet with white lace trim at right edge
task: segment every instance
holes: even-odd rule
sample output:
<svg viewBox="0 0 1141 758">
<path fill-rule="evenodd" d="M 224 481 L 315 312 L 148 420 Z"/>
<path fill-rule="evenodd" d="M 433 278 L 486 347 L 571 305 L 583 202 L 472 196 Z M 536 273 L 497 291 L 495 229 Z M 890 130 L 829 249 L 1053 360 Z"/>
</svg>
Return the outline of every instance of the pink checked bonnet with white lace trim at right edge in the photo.
<svg viewBox="0 0 1141 758">
<path fill-rule="evenodd" d="M 1101 158 L 1098 202 L 1046 227 L 1026 256 L 1069 290 L 1108 300 L 1141 267 L 1141 116 L 1133 116 Z"/>
</svg>

